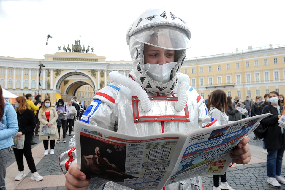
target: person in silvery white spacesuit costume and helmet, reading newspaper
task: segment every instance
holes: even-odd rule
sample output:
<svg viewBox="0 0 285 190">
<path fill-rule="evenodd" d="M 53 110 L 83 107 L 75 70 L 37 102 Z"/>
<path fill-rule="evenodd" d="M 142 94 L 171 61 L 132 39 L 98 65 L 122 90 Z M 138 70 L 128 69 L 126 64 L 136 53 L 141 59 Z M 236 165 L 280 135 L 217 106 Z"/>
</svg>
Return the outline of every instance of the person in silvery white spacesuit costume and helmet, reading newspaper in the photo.
<svg viewBox="0 0 285 190">
<path fill-rule="evenodd" d="M 188 75 L 178 73 L 189 48 L 191 33 L 176 13 L 148 9 L 127 31 L 133 61 L 128 77 L 110 72 L 113 81 L 97 92 L 81 121 L 133 136 L 182 131 L 219 125 L 208 116 L 203 98 L 191 86 Z M 232 162 L 250 161 L 249 137 L 232 150 Z M 77 168 L 75 140 L 61 154 L 66 189 L 87 189 L 90 179 Z M 104 190 L 126 189 L 108 182 Z M 200 177 L 172 183 L 163 188 L 201 190 Z"/>
</svg>

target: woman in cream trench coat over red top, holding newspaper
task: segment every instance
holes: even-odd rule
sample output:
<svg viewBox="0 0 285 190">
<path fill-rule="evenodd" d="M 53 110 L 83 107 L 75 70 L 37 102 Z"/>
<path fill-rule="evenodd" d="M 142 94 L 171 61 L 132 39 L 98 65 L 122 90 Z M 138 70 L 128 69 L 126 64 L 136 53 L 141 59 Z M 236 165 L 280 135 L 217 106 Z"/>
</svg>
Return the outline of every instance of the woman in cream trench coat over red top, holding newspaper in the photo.
<svg viewBox="0 0 285 190">
<path fill-rule="evenodd" d="M 40 132 L 42 131 L 42 127 L 47 125 L 47 126 L 52 126 L 56 125 L 56 120 L 58 118 L 56 109 L 53 107 L 50 107 L 50 100 L 45 99 L 43 102 L 42 108 L 39 110 L 39 121 L 41 122 L 40 125 Z M 48 154 L 48 140 L 50 140 L 50 154 L 54 154 L 54 145 L 55 145 L 55 139 L 59 138 L 59 133 L 56 130 L 56 134 L 53 136 L 46 136 L 46 135 L 39 135 L 39 140 L 43 140 L 44 142 L 44 147 L 45 147 L 45 153 L 44 155 Z"/>
</svg>

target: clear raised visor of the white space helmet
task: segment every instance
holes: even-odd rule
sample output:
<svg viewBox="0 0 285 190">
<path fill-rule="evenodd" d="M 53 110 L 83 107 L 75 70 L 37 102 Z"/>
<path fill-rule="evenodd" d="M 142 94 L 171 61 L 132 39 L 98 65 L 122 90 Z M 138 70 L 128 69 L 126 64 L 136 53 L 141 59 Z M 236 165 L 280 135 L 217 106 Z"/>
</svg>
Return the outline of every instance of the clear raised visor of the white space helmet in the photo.
<svg viewBox="0 0 285 190">
<path fill-rule="evenodd" d="M 144 44 L 169 50 L 183 50 L 191 47 L 186 32 L 173 26 L 149 27 L 134 33 L 132 37 Z"/>
</svg>

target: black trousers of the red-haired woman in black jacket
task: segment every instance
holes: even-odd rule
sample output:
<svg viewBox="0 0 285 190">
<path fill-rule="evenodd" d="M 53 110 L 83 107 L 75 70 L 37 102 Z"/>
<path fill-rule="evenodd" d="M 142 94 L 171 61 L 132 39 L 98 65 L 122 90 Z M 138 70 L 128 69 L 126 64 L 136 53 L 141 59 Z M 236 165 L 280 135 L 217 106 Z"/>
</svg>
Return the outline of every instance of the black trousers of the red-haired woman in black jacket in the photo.
<svg viewBox="0 0 285 190">
<path fill-rule="evenodd" d="M 32 173 L 36 172 L 36 166 L 34 162 L 34 158 L 32 156 L 32 145 L 31 145 L 31 137 L 26 136 L 25 137 L 25 143 L 24 143 L 24 148 L 23 149 L 17 149 L 13 148 L 17 165 L 18 165 L 18 170 L 20 172 L 24 171 L 24 161 L 23 161 L 23 154 L 27 160 L 29 169 L 31 170 Z"/>
</svg>

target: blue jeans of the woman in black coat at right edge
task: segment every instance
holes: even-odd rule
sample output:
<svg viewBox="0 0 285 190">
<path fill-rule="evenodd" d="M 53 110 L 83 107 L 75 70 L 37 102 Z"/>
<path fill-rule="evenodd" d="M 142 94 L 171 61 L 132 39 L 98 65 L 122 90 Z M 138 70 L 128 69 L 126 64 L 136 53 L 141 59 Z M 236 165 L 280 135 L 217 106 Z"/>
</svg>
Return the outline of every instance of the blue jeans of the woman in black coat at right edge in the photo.
<svg viewBox="0 0 285 190">
<path fill-rule="evenodd" d="M 281 175 L 282 158 L 284 149 L 280 148 L 278 150 L 267 149 L 267 176 L 271 178 L 276 178 L 276 175 Z"/>
</svg>

